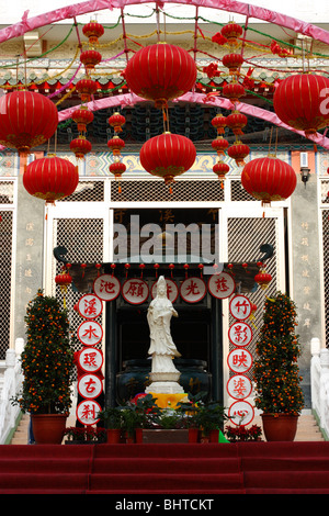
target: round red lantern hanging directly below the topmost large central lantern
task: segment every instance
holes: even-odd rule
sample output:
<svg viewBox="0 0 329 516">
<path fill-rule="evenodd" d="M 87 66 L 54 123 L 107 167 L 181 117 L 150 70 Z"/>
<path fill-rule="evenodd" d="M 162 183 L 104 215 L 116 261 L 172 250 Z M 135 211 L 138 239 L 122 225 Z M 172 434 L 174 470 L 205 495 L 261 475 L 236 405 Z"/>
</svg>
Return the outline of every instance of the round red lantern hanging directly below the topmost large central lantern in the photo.
<svg viewBox="0 0 329 516">
<path fill-rule="evenodd" d="M 171 184 L 174 177 L 181 176 L 193 166 L 196 149 L 185 136 L 163 133 L 148 139 L 143 145 L 139 157 L 145 170 L 163 178 L 166 184 Z"/>
</svg>

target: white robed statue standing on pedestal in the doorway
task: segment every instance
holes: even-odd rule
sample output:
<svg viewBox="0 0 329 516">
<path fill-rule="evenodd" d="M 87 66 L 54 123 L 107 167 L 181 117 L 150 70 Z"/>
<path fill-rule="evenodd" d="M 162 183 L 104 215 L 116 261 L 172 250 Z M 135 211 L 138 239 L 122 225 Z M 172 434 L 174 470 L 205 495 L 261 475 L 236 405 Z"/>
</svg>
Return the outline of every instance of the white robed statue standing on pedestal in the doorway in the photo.
<svg viewBox="0 0 329 516">
<path fill-rule="evenodd" d="M 147 322 L 150 330 L 150 347 L 148 354 L 152 358 L 150 379 L 152 383 L 146 392 L 181 393 L 182 386 L 178 383 L 180 371 L 173 364 L 174 357 L 181 357 L 170 333 L 171 317 L 178 313 L 167 296 L 167 283 L 163 276 L 157 281 L 157 295 L 151 301 Z"/>
</svg>

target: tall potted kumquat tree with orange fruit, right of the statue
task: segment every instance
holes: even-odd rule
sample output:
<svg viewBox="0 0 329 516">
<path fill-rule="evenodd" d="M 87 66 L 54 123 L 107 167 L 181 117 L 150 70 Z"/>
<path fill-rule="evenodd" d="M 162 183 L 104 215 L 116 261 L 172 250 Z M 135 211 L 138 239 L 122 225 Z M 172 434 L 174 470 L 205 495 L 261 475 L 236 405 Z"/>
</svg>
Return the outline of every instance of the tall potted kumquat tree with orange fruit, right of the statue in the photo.
<svg viewBox="0 0 329 516">
<path fill-rule="evenodd" d="M 253 370 L 254 404 L 262 411 L 266 440 L 294 440 L 304 406 L 296 326 L 296 306 L 288 295 L 277 292 L 266 300 Z"/>
</svg>

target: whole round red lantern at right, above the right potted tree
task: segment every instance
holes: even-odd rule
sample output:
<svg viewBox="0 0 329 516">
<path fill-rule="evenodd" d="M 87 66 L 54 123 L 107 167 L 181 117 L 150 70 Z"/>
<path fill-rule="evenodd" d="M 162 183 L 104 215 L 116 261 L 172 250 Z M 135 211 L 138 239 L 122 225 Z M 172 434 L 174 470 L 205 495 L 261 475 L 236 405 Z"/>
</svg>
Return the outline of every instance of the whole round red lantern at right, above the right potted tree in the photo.
<svg viewBox="0 0 329 516">
<path fill-rule="evenodd" d="M 277 158 L 257 158 L 242 170 L 241 183 L 245 190 L 262 204 L 284 201 L 294 192 L 297 178 L 288 164 Z"/>
</svg>

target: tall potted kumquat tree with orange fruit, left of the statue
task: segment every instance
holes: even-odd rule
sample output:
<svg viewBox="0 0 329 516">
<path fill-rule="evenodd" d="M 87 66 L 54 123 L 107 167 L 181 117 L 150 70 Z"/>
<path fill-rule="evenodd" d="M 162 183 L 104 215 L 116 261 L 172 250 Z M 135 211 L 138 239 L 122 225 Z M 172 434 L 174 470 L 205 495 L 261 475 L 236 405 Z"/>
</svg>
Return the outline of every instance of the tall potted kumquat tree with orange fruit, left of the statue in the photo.
<svg viewBox="0 0 329 516">
<path fill-rule="evenodd" d="M 66 310 L 42 290 L 29 303 L 27 340 L 21 355 L 22 392 L 12 401 L 31 414 L 36 444 L 60 444 L 71 406 L 75 371 Z"/>
</svg>

